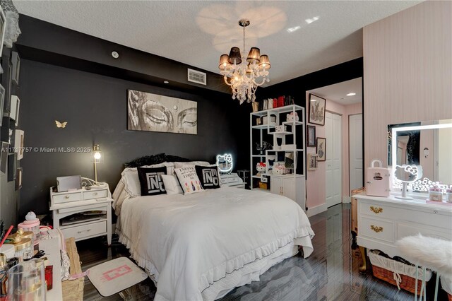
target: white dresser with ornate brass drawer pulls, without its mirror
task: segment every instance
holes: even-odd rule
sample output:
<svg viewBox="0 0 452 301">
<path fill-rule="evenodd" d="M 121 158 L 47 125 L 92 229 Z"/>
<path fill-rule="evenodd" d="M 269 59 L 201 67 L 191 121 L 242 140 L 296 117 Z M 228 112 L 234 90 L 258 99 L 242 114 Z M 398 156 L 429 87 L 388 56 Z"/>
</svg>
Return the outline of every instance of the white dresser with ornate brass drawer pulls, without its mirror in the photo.
<svg viewBox="0 0 452 301">
<path fill-rule="evenodd" d="M 395 242 L 405 236 L 420 233 L 452 240 L 452 203 L 402 200 L 394 194 L 387 198 L 365 194 L 354 197 L 358 205 L 357 244 L 364 262 L 361 271 L 367 268 L 364 248 L 379 249 L 393 257 L 400 256 Z"/>
</svg>

